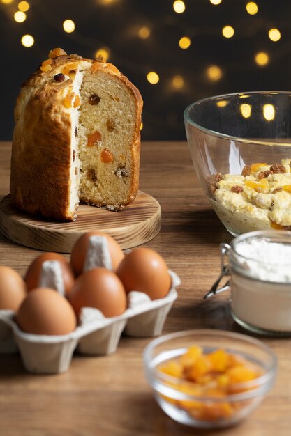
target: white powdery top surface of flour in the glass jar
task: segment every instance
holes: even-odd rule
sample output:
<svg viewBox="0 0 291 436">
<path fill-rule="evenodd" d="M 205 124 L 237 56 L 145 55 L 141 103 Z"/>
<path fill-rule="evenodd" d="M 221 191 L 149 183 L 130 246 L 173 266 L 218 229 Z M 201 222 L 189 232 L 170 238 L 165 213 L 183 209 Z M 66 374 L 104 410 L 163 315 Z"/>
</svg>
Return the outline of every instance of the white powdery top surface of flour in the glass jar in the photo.
<svg viewBox="0 0 291 436">
<path fill-rule="evenodd" d="M 250 238 L 235 244 L 237 262 L 247 275 L 274 283 L 291 283 L 290 244 L 271 242 L 268 238 Z"/>
</svg>

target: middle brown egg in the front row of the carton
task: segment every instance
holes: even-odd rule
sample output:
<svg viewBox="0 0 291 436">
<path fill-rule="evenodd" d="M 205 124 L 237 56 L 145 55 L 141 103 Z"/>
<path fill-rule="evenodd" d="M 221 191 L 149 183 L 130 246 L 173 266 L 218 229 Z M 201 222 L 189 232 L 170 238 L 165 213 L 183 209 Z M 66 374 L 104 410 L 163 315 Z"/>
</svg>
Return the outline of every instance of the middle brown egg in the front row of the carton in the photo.
<svg viewBox="0 0 291 436">
<path fill-rule="evenodd" d="M 81 307 L 99 309 L 107 318 L 126 310 L 124 286 L 114 272 L 105 268 L 94 268 L 79 276 L 68 299 L 77 315 Z"/>
</svg>

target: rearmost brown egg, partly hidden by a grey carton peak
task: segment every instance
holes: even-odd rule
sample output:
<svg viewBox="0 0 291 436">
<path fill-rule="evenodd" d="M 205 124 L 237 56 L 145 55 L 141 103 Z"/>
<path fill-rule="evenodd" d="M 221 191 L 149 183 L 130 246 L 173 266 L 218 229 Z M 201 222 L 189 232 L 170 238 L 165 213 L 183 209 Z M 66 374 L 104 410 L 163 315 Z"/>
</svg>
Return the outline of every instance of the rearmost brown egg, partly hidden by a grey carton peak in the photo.
<svg viewBox="0 0 291 436">
<path fill-rule="evenodd" d="M 90 236 L 104 236 L 108 242 L 108 249 L 112 260 L 113 270 L 117 270 L 117 267 L 121 260 L 124 258 L 124 252 L 121 250 L 120 245 L 110 235 L 98 231 L 91 231 L 84 233 L 76 242 L 70 255 L 70 263 L 75 271 L 75 274 L 82 274 L 84 270 L 84 263 L 87 256 L 87 250 L 89 247 Z"/>
</svg>

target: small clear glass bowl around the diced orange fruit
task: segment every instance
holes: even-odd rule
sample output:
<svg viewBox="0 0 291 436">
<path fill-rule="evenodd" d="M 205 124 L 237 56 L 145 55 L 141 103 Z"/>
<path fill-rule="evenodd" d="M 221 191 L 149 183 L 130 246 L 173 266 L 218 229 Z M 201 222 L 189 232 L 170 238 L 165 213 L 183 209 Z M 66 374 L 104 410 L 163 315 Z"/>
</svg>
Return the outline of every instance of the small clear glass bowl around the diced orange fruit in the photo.
<svg viewBox="0 0 291 436">
<path fill-rule="evenodd" d="M 233 385 L 239 393 L 223 398 L 188 394 L 191 382 L 187 382 L 187 391 L 185 380 L 163 373 L 158 366 L 179 358 L 192 345 L 202 347 L 207 353 L 223 348 L 228 353 L 244 357 L 262 375 L 250 382 Z M 276 375 L 276 356 L 264 343 L 244 334 L 210 329 L 188 330 L 156 338 L 144 349 L 143 359 L 145 376 L 162 410 L 175 421 L 198 428 L 223 428 L 246 418 L 271 389 Z M 199 417 L 203 416 L 200 411 L 204 408 L 209 419 Z"/>
</svg>

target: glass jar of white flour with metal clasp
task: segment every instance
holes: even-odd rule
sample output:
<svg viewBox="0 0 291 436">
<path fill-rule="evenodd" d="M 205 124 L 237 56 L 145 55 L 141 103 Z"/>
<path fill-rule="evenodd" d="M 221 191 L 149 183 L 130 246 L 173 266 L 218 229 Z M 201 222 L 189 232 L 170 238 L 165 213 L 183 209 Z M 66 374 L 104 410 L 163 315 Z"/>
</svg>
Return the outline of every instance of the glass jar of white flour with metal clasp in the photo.
<svg viewBox="0 0 291 436">
<path fill-rule="evenodd" d="M 218 288 L 227 275 L 230 280 Z M 229 288 L 232 318 L 239 325 L 260 334 L 290 335 L 291 231 L 249 232 L 221 244 L 221 276 L 204 298 Z"/>
</svg>

